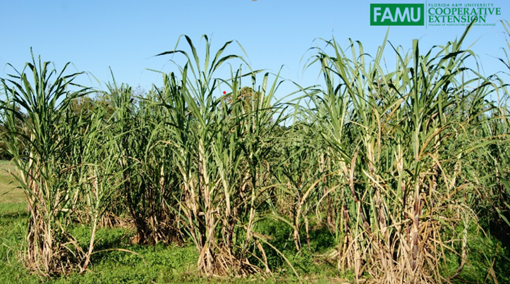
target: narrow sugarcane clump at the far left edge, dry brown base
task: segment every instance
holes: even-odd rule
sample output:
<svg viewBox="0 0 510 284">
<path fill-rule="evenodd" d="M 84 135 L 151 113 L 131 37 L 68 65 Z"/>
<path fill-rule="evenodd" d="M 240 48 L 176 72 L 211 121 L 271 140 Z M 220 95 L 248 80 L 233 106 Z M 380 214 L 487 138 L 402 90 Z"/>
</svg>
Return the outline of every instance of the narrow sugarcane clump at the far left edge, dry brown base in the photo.
<svg viewBox="0 0 510 284">
<path fill-rule="evenodd" d="M 28 203 L 23 260 L 43 275 L 73 266 L 68 226 L 79 187 L 71 180 L 70 150 L 80 120 L 68 111 L 71 101 L 90 89 L 73 81 L 80 73 L 58 72 L 51 63 L 26 63 L 21 72 L 2 78 L 6 99 L 1 102 L 6 132 L 2 139 L 13 156 Z"/>
</svg>

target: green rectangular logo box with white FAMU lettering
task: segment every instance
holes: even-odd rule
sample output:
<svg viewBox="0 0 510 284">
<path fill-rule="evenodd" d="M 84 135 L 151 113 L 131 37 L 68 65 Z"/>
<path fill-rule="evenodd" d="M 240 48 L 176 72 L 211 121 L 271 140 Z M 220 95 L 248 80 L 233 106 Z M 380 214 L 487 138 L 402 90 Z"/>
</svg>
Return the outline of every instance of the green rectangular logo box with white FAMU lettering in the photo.
<svg viewBox="0 0 510 284">
<path fill-rule="evenodd" d="M 370 4 L 370 25 L 425 25 L 425 4 Z"/>
</svg>

